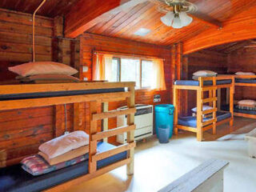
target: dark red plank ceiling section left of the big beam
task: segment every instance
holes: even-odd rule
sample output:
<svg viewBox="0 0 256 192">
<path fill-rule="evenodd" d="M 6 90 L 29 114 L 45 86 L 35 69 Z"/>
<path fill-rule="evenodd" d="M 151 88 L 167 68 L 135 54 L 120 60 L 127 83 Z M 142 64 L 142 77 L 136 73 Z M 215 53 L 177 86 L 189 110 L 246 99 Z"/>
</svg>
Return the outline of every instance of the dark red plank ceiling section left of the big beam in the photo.
<svg viewBox="0 0 256 192">
<path fill-rule="evenodd" d="M 54 18 L 57 15 L 65 15 L 79 0 L 47 0 L 38 10 L 38 15 Z M 0 7 L 7 10 L 16 10 L 33 14 L 42 0 L 1 0 Z"/>
</svg>

